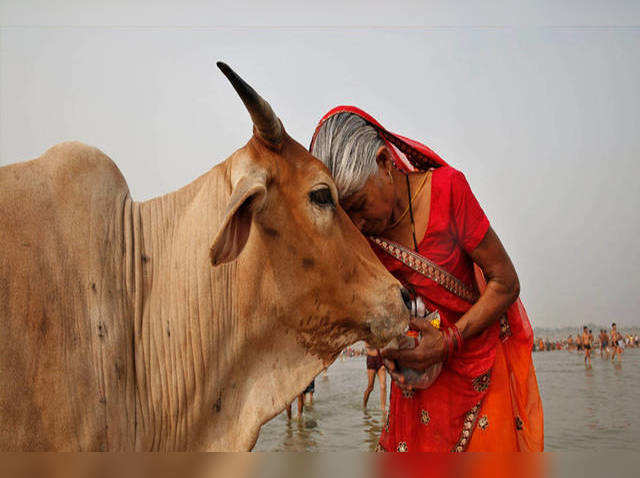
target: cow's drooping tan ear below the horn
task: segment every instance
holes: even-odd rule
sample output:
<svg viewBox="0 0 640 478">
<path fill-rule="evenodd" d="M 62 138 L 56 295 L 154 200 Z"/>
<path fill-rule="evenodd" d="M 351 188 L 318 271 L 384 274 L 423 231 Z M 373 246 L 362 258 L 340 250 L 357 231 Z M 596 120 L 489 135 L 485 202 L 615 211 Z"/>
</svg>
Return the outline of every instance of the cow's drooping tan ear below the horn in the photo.
<svg viewBox="0 0 640 478">
<path fill-rule="evenodd" d="M 249 239 L 254 213 L 264 205 L 266 174 L 253 171 L 240 178 L 233 188 L 222 226 L 211 246 L 211 264 L 234 261 Z"/>
</svg>

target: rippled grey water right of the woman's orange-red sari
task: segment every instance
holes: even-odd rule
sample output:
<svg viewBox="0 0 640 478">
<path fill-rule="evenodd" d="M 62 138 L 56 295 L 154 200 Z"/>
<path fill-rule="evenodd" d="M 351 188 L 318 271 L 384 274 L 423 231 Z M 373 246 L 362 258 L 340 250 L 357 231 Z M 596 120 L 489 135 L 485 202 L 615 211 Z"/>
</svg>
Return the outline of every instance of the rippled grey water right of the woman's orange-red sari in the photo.
<svg viewBox="0 0 640 478">
<path fill-rule="evenodd" d="M 534 354 L 549 451 L 640 451 L 640 349 L 622 364 L 594 351 L 592 368 L 577 352 Z"/>
</svg>

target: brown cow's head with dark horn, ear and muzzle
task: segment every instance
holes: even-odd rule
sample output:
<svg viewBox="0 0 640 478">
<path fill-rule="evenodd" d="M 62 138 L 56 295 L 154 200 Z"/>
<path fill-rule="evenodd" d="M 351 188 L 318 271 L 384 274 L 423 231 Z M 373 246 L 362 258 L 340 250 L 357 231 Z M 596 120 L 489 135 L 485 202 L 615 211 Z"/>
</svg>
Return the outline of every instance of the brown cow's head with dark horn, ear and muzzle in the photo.
<svg viewBox="0 0 640 478">
<path fill-rule="evenodd" d="M 406 291 L 340 208 L 327 168 L 287 135 L 253 88 L 226 64 L 218 67 L 254 128 L 231 157 L 232 192 L 211 247 L 212 264 L 261 257 L 268 313 L 318 355 L 335 355 L 360 339 L 382 346 L 402 334 Z"/>
</svg>

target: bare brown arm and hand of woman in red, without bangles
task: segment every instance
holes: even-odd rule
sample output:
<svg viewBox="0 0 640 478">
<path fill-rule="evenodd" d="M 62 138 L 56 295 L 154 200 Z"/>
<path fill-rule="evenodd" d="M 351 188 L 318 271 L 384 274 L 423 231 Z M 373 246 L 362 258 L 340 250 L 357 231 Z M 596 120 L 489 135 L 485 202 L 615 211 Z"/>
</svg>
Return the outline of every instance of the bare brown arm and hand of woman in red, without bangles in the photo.
<svg viewBox="0 0 640 478">
<path fill-rule="evenodd" d="M 520 293 L 516 270 L 492 228 L 473 250 L 471 258 L 482 269 L 487 287 L 480 299 L 455 324 L 463 339 L 482 333 L 515 302 Z M 425 370 L 441 362 L 445 356 L 442 333 L 424 321 L 412 321 L 411 325 L 422 332 L 416 348 L 388 350 L 382 352 L 382 356 L 416 370 Z"/>
</svg>

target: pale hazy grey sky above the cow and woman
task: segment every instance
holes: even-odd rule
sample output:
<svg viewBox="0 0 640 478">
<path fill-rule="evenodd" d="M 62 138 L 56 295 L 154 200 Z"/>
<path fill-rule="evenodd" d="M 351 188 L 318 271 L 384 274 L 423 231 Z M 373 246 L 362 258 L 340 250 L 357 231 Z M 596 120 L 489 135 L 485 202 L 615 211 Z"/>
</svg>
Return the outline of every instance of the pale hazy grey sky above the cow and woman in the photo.
<svg viewBox="0 0 640 478">
<path fill-rule="evenodd" d="M 0 165 L 76 139 L 175 190 L 250 136 L 222 59 L 305 146 L 355 104 L 462 170 L 534 325 L 640 325 L 640 2 L 129 3 L 0 0 Z"/>
</svg>

